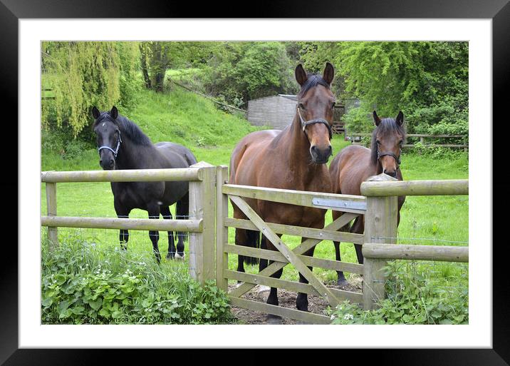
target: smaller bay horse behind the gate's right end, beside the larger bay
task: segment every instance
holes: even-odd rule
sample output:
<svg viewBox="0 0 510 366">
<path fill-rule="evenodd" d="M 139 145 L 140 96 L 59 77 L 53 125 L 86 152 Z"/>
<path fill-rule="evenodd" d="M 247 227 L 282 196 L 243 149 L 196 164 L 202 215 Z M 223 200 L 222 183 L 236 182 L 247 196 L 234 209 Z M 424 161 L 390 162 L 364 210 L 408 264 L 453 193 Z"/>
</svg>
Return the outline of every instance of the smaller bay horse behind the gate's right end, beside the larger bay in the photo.
<svg viewBox="0 0 510 366">
<path fill-rule="evenodd" d="M 385 173 L 388 176 L 402 181 L 402 171 L 400 171 L 400 153 L 402 152 L 402 143 L 405 141 L 404 113 L 399 111 L 397 118 L 378 117 L 373 112 L 375 129 L 372 133 L 370 149 L 359 145 L 350 145 L 343 148 L 338 153 L 331 165 L 329 172 L 331 174 L 331 184 L 333 193 L 346 195 L 360 195 L 361 183 L 371 176 L 377 176 Z M 397 225 L 400 222 L 400 208 L 405 201 L 405 195 L 398 197 Z M 342 215 L 340 211 L 332 211 L 333 220 Z M 346 225 L 340 230 L 350 230 L 351 233 L 363 234 L 365 228 L 364 216 L 355 218 L 353 225 L 348 228 Z M 336 260 L 340 260 L 340 242 L 333 242 L 335 245 Z M 354 245 L 358 263 L 363 264 L 363 254 L 361 245 Z M 344 286 L 348 282 L 342 271 L 337 272 L 338 285 Z"/>
</svg>

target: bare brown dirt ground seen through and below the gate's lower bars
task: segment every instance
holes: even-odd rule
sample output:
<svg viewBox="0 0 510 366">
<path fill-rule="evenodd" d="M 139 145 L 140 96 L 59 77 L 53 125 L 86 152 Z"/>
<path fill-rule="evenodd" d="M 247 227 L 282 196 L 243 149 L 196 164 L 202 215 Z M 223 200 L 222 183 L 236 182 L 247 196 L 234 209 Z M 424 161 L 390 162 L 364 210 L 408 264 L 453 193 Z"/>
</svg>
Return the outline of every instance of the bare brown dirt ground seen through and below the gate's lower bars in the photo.
<svg viewBox="0 0 510 366">
<path fill-rule="evenodd" d="M 230 285 L 229 290 L 235 286 Z M 351 276 L 349 278 L 349 284 L 340 288 L 338 285 L 327 285 L 328 288 L 336 288 L 338 290 L 347 290 L 355 293 L 361 293 L 361 278 L 359 276 Z M 260 287 L 256 286 L 246 293 L 243 298 L 248 300 L 259 301 L 266 303 L 269 291 L 259 291 Z M 279 305 L 282 307 L 288 307 L 296 309 L 296 296 L 297 293 L 293 293 L 287 290 L 278 290 Z M 324 298 L 317 295 L 308 295 L 308 310 L 316 314 L 324 314 L 324 311 L 328 307 L 328 303 Z M 241 307 L 232 307 L 232 315 L 238 320 L 239 324 L 266 324 L 266 314 L 264 312 L 256 312 L 253 310 L 243 309 Z M 283 318 L 282 324 L 297 324 L 297 320 Z"/>
</svg>

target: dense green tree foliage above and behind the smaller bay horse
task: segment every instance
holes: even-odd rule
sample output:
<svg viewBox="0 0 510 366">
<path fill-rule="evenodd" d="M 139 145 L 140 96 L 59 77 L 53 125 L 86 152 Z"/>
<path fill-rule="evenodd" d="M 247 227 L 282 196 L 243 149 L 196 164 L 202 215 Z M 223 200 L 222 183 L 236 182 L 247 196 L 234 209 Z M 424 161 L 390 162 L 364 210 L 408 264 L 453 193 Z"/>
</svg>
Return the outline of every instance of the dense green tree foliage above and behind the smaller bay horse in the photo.
<svg viewBox="0 0 510 366">
<path fill-rule="evenodd" d="M 365 112 L 374 105 L 380 116 L 402 110 L 416 133 L 467 126 L 467 42 L 312 42 L 302 50 L 305 64 L 331 60 L 345 96 L 363 99 Z"/>
</svg>

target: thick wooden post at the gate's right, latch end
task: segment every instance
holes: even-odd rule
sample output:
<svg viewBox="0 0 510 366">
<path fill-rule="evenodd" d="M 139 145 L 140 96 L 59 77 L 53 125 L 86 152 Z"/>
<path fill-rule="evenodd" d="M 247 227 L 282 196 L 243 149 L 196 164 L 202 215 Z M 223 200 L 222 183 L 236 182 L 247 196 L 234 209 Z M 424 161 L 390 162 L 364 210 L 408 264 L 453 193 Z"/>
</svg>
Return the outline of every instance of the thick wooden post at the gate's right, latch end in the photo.
<svg viewBox="0 0 510 366">
<path fill-rule="evenodd" d="M 368 181 L 396 181 L 381 173 Z M 365 243 L 395 243 L 397 236 L 397 196 L 367 197 L 365 213 Z M 363 307 L 375 308 L 378 300 L 385 298 L 386 260 L 365 258 L 363 261 Z"/>
</svg>

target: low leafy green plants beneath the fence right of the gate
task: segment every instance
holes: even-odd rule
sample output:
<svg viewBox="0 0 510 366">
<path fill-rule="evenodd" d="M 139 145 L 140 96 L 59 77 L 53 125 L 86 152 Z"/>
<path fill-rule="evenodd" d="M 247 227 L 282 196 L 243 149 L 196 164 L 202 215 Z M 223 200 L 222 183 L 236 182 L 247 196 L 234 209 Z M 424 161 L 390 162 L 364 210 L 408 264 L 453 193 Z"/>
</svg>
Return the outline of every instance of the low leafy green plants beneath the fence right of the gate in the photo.
<svg viewBox="0 0 510 366">
<path fill-rule="evenodd" d="M 333 324 L 467 324 L 468 289 L 465 283 L 449 290 L 432 280 L 427 270 L 412 263 L 394 261 L 387 265 L 387 298 L 376 310 L 362 310 L 344 301 L 331 312 Z M 446 268 L 443 275 L 452 275 Z M 466 270 L 467 272 L 467 270 Z"/>
</svg>

